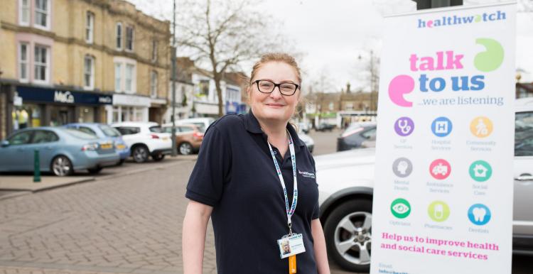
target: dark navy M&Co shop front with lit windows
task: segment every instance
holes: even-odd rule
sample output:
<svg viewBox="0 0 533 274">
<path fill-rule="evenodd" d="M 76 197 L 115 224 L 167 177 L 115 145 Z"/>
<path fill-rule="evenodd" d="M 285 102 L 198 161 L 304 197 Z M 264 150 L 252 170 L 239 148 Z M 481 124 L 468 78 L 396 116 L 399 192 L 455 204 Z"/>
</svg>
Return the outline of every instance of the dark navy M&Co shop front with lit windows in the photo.
<svg viewBox="0 0 533 274">
<path fill-rule="evenodd" d="M 36 126 L 61 126 L 68 123 L 103 123 L 104 106 L 111 95 L 64 89 L 17 86 L 11 108 L 9 132 Z"/>
</svg>

